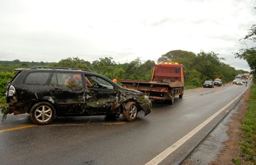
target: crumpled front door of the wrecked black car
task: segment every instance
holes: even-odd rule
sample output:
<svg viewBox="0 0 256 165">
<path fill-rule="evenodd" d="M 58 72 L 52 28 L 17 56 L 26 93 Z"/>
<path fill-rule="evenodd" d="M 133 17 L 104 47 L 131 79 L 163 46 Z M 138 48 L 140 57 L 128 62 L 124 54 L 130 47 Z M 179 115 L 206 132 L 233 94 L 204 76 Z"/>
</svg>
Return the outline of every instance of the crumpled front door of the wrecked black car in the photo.
<svg viewBox="0 0 256 165">
<path fill-rule="evenodd" d="M 114 109 L 117 103 L 117 91 L 113 83 L 105 77 L 85 75 L 87 81 L 86 103 L 90 114 L 107 114 L 119 111 Z"/>
</svg>

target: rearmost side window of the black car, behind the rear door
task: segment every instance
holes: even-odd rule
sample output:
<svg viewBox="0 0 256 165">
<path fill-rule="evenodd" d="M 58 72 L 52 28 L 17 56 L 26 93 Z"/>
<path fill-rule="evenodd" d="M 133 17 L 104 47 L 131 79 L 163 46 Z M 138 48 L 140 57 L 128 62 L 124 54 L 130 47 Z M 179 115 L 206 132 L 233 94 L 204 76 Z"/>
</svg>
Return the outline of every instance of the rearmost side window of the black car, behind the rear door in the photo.
<svg viewBox="0 0 256 165">
<path fill-rule="evenodd" d="M 50 73 L 47 72 L 32 72 L 26 77 L 25 84 L 44 85 L 46 84 Z"/>
</svg>

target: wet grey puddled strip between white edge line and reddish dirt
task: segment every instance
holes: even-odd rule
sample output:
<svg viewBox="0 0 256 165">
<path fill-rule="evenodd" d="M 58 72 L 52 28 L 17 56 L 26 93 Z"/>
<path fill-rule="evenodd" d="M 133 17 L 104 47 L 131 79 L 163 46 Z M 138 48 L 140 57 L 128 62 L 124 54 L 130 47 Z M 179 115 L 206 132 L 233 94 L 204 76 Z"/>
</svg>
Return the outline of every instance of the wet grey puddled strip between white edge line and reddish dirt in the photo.
<svg viewBox="0 0 256 165">
<path fill-rule="evenodd" d="M 193 150 L 186 161 L 191 164 L 208 164 L 217 159 L 217 155 L 224 149 L 223 142 L 229 141 L 226 131 L 229 129 L 226 126 L 231 120 L 233 114 L 238 113 L 240 103 L 230 111 L 229 114 L 217 125 L 217 127 L 204 139 L 199 146 Z M 182 163 L 184 164 L 184 163 Z"/>
</svg>

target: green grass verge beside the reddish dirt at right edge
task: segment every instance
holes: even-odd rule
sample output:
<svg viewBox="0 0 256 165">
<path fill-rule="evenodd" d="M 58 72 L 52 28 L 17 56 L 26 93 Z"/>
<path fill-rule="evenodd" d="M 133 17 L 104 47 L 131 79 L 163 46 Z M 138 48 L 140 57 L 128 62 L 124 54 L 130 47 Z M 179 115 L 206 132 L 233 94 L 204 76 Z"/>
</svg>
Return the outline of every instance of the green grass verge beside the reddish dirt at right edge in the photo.
<svg viewBox="0 0 256 165">
<path fill-rule="evenodd" d="M 248 103 L 247 113 L 241 121 L 244 141 L 239 144 L 242 145 L 241 152 L 246 154 L 246 160 L 256 164 L 256 84 L 251 87 Z"/>
</svg>

